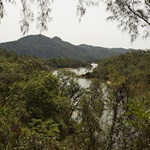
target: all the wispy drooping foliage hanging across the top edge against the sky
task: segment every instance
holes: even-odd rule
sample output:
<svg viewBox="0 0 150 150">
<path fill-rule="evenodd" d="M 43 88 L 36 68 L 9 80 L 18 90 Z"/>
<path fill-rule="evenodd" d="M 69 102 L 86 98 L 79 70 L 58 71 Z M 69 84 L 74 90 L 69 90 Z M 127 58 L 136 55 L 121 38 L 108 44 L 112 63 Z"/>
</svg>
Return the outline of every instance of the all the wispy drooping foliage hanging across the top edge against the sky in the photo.
<svg viewBox="0 0 150 150">
<path fill-rule="evenodd" d="M 31 10 L 31 5 L 37 7 L 37 28 L 40 32 L 47 30 L 47 24 L 52 19 L 50 17 L 51 5 L 55 0 L 21 0 L 22 20 L 21 31 L 27 33 L 30 27 L 30 22 L 34 20 L 34 11 Z M 142 36 L 147 38 L 150 36 L 150 0 L 102 0 L 106 4 L 106 10 L 112 13 L 108 17 L 109 20 L 119 22 L 118 27 L 123 31 L 128 31 L 131 35 L 131 40 L 134 41 L 143 31 Z M 7 1 L 0 0 L 0 22 L 4 17 L 4 6 Z M 9 3 L 15 3 L 15 0 L 9 0 Z M 77 0 L 77 15 L 79 20 L 85 14 L 87 6 L 99 5 L 100 0 Z"/>
</svg>

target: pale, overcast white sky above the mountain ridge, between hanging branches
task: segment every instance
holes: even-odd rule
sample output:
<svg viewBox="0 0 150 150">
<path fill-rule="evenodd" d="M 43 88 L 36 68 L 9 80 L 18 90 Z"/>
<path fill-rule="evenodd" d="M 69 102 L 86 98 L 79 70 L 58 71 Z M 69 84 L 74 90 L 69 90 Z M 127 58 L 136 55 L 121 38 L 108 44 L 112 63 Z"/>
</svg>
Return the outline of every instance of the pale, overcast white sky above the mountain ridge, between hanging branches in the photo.
<svg viewBox="0 0 150 150">
<path fill-rule="evenodd" d="M 104 4 L 100 3 L 98 7 L 88 7 L 81 22 L 76 14 L 76 4 L 76 0 L 55 0 L 51 12 L 53 19 L 48 24 L 48 31 L 42 34 L 50 38 L 58 36 L 63 41 L 74 45 L 150 49 L 150 37 L 148 39 L 138 38 L 132 43 L 128 33 L 118 29 L 116 22 L 107 21 L 109 13 L 105 11 Z M 5 10 L 6 16 L 0 24 L 0 43 L 23 37 L 19 23 L 21 20 L 20 5 L 18 3 L 16 5 L 7 4 Z M 39 33 L 34 22 L 26 35 Z"/>
</svg>

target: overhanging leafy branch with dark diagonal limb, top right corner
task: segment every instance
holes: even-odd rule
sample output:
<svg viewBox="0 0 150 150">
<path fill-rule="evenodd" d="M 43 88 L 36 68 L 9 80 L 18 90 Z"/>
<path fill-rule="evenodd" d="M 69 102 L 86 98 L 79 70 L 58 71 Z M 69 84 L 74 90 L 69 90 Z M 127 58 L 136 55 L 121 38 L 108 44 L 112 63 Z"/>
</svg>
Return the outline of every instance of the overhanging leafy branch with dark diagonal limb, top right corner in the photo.
<svg viewBox="0 0 150 150">
<path fill-rule="evenodd" d="M 112 13 L 108 19 L 119 22 L 119 27 L 128 31 L 134 41 L 143 30 L 143 37 L 150 36 L 150 0 L 109 0 L 107 10 Z"/>
</svg>

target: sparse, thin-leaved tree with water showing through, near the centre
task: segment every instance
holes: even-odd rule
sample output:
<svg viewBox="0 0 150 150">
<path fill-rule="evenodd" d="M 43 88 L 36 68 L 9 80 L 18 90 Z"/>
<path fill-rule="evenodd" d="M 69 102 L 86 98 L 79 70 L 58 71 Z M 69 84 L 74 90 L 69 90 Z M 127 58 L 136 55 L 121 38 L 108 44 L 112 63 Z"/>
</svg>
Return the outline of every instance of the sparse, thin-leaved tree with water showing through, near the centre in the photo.
<svg viewBox="0 0 150 150">
<path fill-rule="evenodd" d="M 75 76 L 74 72 L 67 70 L 59 70 L 57 72 L 57 77 L 60 79 L 60 96 L 67 97 L 70 102 L 70 111 L 68 112 L 70 118 L 77 111 L 84 92 L 84 89 L 79 85 Z"/>
</svg>

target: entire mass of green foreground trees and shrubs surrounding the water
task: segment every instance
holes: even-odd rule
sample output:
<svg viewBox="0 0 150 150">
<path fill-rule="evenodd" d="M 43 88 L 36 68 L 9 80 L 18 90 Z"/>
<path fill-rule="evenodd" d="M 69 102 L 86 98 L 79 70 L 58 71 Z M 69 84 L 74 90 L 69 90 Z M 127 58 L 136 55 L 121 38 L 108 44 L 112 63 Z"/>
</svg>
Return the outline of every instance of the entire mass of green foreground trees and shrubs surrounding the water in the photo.
<svg viewBox="0 0 150 150">
<path fill-rule="evenodd" d="M 148 150 L 150 51 L 103 60 L 88 89 L 45 60 L 0 50 L 0 149 Z"/>
</svg>

